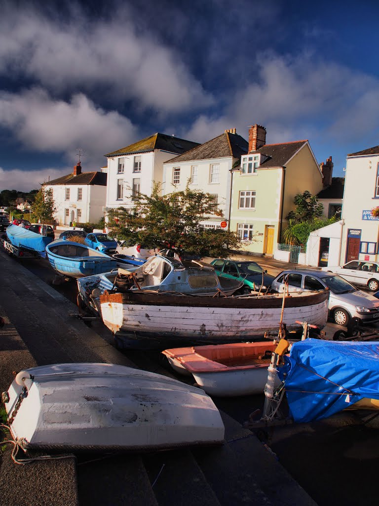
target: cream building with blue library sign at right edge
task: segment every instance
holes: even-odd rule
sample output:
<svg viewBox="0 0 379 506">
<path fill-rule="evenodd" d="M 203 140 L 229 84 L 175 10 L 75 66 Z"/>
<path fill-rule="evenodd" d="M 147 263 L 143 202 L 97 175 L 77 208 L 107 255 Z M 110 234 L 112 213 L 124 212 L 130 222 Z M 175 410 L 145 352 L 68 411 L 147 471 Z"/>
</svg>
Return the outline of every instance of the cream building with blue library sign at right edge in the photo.
<svg viewBox="0 0 379 506">
<path fill-rule="evenodd" d="M 351 260 L 378 261 L 379 146 L 347 155 L 342 207 L 340 264 Z"/>
</svg>

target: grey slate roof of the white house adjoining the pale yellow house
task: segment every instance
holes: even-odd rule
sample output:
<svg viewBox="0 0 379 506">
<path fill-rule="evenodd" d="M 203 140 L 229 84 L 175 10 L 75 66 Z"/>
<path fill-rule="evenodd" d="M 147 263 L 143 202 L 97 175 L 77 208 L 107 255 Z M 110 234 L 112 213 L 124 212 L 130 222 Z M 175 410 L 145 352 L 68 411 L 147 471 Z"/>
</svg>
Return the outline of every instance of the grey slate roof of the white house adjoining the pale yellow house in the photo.
<svg viewBox="0 0 379 506">
<path fill-rule="evenodd" d="M 224 158 L 233 156 L 240 158 L 248 152 L 249 143 L 238 134 L 224 132 L 223 134 L 190 149 L 186 153 L 171 158 L 165 163 L 179 163 L 182 161 L 207 160 L 209 158 Z"/>
</svg>

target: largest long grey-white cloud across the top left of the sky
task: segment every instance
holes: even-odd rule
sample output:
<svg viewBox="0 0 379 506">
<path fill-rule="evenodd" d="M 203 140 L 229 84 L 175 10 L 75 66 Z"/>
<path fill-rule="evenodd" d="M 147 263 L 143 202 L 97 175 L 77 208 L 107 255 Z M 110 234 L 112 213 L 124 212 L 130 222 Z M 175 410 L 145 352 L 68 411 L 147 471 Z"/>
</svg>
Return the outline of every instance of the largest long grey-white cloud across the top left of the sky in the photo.
<svg viewBox="0 0 379 506">
<path fill-rule="evenodd" d="M 101 88 L 109 98 L 165 112 L 212 101 L 179 54 L 133 25 L 127 7 L 97 20 L 76 10 L 69 22 L 32 8 L 4 9 L 0 72 L 35 79 L 54 93 Z"/>
</svg>

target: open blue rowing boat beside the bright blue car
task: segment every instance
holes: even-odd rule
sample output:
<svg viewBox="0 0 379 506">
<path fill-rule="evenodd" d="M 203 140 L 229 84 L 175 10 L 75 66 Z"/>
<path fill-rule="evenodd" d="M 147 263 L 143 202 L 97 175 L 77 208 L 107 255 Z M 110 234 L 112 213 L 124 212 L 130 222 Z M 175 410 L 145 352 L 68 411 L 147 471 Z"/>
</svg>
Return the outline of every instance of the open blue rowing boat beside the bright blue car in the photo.
<svg viewBox="0 0 379 506">
<path fill-rule="evenodd" d="M 101 274 L 117 267 L 116 260 L 78 242 L 57 240 L 46 246 L 53 269 L 70 278 Z"/>
</svg>

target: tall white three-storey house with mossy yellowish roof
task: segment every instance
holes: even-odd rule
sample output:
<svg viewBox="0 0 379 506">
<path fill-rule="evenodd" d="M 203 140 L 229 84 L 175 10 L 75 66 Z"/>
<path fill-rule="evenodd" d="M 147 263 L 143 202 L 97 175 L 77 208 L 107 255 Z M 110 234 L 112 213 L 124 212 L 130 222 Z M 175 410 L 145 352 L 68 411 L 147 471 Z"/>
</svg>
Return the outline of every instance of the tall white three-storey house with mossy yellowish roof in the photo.
<svg viewBox="0 0 379 506">
<path fill-rule="evenodd" d="M 163 181 L 163 162 L 198 145 L 197 142 L 157 133 L 106 154 L 108 182 L 105 210 L 133 207 L 136 192 L 151 195 L 154 182 Z"/>
</svg>

